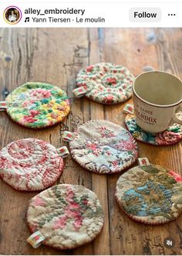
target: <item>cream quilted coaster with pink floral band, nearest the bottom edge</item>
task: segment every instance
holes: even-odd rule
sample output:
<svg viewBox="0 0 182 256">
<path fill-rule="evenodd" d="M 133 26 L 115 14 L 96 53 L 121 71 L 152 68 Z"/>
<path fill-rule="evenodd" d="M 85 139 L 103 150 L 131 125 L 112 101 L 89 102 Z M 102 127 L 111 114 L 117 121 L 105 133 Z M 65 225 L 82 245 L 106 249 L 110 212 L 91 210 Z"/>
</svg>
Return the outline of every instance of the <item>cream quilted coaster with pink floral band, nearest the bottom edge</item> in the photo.
<svg viewBox="0 0 182 256">
<path fill-rule="evenodd" d="M 93 191 L 84 186 L 61 184 L 32 198 L 27 221 L 32 233 L 39 232 L 45 237 L 42 244 L 66 250 L 93 241 L 104 220 L 103 209 Z"/>
</svg>

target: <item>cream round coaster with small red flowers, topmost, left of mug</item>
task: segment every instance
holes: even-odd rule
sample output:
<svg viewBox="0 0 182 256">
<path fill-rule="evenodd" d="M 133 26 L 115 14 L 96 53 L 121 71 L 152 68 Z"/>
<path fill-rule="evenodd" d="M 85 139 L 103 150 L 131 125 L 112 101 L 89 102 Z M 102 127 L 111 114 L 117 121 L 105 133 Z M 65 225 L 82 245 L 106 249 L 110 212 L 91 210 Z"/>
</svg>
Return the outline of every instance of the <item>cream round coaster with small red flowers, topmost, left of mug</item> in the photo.
<svg viewBox="0 0 182 256">
<path fill-rule="evenodd" d="M 101 104 L 118 104 L 132 95 L 133 74 L 126 67 L 112 63 L 97 63 L 80 70 L 76 79 L 76 97 L 84 94 Z"/>
</svg>

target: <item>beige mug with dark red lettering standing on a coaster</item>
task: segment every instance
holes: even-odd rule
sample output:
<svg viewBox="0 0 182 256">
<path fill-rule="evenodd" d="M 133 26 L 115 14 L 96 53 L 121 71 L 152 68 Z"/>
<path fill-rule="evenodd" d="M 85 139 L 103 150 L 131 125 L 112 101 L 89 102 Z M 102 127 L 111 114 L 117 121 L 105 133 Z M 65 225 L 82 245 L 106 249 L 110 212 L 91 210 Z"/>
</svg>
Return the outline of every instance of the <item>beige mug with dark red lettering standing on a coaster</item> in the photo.
<svg viewBox="0 0 182 256">
<path fill-rule="evenodd" d="M 150 71 L 136 77 L 133 84 L 133 104 L 136 124 L 144 131 L 157 133 L 172 123 L 182 125 L 177 117 L 181 108 L 182 82 L 174 75 Z"/>
</svg>

